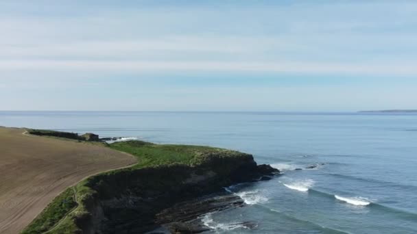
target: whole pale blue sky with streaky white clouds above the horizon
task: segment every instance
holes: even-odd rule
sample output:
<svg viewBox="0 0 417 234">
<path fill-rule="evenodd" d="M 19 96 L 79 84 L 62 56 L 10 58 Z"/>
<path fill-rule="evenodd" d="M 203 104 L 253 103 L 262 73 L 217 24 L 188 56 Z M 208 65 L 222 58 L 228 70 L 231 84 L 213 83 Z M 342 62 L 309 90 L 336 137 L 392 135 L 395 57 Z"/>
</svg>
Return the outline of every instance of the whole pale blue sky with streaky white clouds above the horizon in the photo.
<svg viewBox="0 0 417 234">
<path fill-rule="evenodd" d="M 417 109 L 417 1 L 0 1 L 0 110 Z"/>
</svg>

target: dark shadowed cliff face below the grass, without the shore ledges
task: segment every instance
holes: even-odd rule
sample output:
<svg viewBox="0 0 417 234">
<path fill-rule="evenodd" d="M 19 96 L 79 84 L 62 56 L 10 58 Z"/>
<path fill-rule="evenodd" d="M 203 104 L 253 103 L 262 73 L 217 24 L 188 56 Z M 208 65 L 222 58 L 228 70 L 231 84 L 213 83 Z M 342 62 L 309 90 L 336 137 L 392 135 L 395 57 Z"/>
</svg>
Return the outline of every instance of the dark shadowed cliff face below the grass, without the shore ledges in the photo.
<svg viewBox="0 0 417 234">
<path fill-rule="evenodd" d="M 95 190 L 84 206 L 88 214 L 75 220 L 81 233 L 143 233 L 158 223 L 156 214 L 175 203 L 253 181 L 278 170 L 257 166 L 252 155 L 200 155 L 198 166 L 171 164 L 102 174 L 88 181 Z M 264 177 L 265 178 L 265 177 Z"/>
</svg>

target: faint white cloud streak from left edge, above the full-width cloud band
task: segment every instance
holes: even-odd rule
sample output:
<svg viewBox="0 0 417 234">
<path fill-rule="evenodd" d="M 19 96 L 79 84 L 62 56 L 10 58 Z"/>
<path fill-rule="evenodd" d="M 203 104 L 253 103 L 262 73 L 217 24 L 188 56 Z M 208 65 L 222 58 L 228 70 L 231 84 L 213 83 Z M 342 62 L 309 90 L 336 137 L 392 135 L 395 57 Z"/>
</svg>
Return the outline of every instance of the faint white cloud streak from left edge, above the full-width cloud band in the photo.
<svg viewBox="0 0 417 234">
<path fill-rule="evenodd" d="M 212 51 L 219 53 L 237 53 L 247 51 L 243 42 L 233 43 L 232 40 L 219 38 L 187 38 L 171 37 L 165 39 L 140 39 L 117 41 L 76 41 L 61 44 L 6 44 L 0 46 L 1 57 L 6 56 L 116 56 L 146 51 Z"/>
</svg>

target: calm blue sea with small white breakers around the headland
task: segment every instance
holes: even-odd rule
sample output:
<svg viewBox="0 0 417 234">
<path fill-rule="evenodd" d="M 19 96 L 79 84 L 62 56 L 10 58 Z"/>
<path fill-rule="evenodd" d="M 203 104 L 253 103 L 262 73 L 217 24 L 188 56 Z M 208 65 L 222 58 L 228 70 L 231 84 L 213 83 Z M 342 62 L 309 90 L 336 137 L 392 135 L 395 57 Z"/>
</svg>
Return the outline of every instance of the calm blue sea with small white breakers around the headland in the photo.
<svg viewBox="0 0 417 234">
<path fill-rule="evenodd" d="M 0 112 L 0 125 L 232 148 L 283 170 L 229 187 L 248 205 L 203 216 L 213 233 L 417 233 L 417 114 Z"/>
</svg>

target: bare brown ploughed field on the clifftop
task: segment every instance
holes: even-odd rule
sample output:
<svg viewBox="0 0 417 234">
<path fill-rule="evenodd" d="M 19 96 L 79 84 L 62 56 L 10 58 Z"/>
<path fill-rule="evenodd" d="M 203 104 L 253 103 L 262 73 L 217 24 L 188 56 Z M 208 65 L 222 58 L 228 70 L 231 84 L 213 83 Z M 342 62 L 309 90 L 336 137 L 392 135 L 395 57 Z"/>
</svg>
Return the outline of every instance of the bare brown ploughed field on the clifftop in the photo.
<svg viewBox="0 0 417 234">
<path fill-rule="evenodd" d="M 105 146 L 25 135 L 0 127 L 0 233 L 19 233 L 48 203 L 85 177 L 136 163 Z"/>
</svg>

